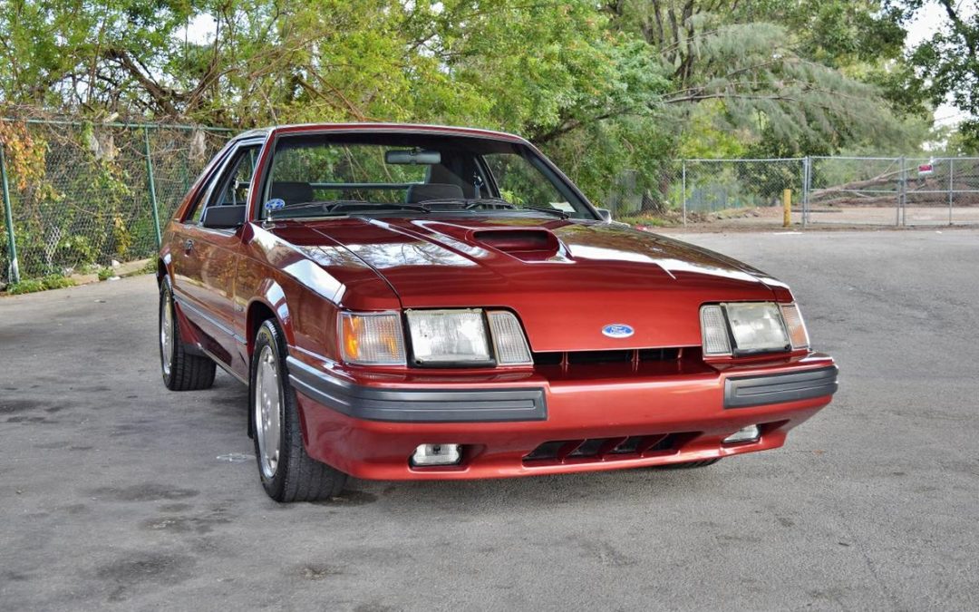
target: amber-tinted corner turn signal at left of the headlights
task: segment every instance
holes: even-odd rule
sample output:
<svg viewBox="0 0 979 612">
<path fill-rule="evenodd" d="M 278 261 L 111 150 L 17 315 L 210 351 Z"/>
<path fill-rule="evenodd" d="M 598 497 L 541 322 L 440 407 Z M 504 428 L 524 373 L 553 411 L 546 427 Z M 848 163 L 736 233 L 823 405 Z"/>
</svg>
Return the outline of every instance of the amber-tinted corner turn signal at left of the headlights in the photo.
<svg viewBox="0 0 979 612">
<path fill-rule="evenodd" d="M 348 363 L 404 364 L 404 333 L 396 312 L 342 313 L 340 341 Z"/>
</svg>

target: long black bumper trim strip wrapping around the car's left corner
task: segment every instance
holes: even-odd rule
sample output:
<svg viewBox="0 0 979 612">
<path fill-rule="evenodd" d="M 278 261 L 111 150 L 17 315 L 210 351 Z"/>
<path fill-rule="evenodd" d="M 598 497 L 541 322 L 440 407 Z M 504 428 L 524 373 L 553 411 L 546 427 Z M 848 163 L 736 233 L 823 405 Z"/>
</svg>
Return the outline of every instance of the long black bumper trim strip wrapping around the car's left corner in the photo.
<svg viewBox="0 0 979 612">
<path fill-rule="evenodd" d="M 375 389 L 330 376 L 296 357 L 288 357 L 287 366 L 289 380 L 298 392 L 353 418 L 402 423 L 489 423 L 547 419 L 544 390 L 539 387 Z"/>
</svg>

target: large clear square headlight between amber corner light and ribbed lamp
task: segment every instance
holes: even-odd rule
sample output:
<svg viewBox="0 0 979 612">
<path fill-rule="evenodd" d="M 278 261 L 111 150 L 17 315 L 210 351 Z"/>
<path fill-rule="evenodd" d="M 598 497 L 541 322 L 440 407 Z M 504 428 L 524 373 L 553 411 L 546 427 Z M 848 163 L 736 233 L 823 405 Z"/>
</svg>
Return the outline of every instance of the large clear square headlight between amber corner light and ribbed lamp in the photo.
<svg viewBox="0 0 979 612">
<path fill-rule="evenodd" d="M 483 310 L 407 310 L 405 316 L 418 365 L 492 363 Z"/>
</svg>

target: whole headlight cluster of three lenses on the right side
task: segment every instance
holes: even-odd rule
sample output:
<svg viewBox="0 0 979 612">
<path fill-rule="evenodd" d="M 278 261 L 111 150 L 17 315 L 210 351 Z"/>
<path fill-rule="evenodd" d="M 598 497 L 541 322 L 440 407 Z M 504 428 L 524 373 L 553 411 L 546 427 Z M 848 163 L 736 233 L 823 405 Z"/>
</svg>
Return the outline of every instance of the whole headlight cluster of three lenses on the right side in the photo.
<svg viewBox="0 0 979 612">
<path fill-rule="evenodd" d="M 700 325 L 707 356 L 809 347 L 806 325 L 794 304 L 748 302 L 702 306 Z"/>
</svg>

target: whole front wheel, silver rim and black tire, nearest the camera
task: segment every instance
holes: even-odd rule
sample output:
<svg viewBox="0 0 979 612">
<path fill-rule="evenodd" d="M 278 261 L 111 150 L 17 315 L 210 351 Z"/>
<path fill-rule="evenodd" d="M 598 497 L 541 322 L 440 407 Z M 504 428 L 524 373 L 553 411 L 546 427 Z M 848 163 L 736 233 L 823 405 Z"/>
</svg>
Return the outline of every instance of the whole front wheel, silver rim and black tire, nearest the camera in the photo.
<svg viewBox="0 0 979 612">
<path fill-rule="evenodd" d="M 315 501 L 340 494 L 347 475 L 306 454 L 296 392 L 286 370 L 278 325 L 258 328 L 252 354 L 252 418 L 261 485 L 276 501 Z"/>
</svg>

